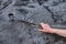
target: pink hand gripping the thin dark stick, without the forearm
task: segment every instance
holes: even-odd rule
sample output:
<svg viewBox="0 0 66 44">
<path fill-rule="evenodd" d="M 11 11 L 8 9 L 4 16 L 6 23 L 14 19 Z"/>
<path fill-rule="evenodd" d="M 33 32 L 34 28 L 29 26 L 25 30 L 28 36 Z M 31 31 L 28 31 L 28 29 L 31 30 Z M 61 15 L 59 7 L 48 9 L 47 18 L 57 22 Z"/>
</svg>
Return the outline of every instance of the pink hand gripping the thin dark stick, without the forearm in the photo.
<svg viewBox="0 0 66 44">
<path fill-rule="evenodd" d="M 45 32 L 45 33 L 53 33 L 53 29 L 48 24 L 40 23 L 41 29 L 38 31 Z"/>
</svg>

